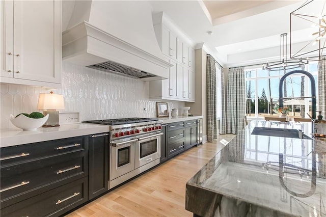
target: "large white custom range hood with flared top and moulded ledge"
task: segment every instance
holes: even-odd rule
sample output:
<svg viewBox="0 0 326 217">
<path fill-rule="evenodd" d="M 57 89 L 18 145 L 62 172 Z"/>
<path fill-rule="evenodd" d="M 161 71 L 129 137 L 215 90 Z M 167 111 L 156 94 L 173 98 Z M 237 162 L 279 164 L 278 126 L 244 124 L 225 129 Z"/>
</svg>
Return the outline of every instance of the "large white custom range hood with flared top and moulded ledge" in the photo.
<svg viewBox="0 0 326 217">
<path fill-rule="evenodd" d="M 168 78 L 172 65 L 163 60 L 147 2 L 74 1 L 73 4 L 62 37 L 64 62 L 145 81 Z"/>
</svg>

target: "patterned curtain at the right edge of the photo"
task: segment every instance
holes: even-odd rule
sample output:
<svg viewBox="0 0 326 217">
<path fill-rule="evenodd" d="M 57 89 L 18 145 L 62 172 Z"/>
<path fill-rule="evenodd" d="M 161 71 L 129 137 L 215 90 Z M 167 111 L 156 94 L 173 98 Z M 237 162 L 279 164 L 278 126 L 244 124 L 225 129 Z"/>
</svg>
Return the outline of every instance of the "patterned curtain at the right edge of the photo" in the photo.
<svg viewBox="0 0 326 217">
<path fill-rule="evenodd" d="M 318 63 L 318 106 L 323 119 L 326 117 L 326 58 Z M 317 115 L 316 115 L 317 116 Z"/>
</svg>

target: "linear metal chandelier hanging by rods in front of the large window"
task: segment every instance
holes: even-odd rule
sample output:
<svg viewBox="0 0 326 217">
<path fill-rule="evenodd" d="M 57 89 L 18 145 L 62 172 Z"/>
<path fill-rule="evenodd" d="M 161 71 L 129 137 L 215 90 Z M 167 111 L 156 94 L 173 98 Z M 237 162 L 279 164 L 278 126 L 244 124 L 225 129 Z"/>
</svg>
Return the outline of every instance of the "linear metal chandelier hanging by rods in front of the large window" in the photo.
<svg viewBox="0 0 326 217">
<path fill-rule="evenodd" d="M 281 43 L 280 43 L 280 62 L 274 64 L 263 65 L 264 70 L 268 71 L 283 71 L 289 69 L 295 69 L 298 67 L 303 67 L 308 64 L 308 59 L 304 61 L 302 58 L 300 60 L 287 60 L 287 33 L 281 34 Z"/>
</svg>

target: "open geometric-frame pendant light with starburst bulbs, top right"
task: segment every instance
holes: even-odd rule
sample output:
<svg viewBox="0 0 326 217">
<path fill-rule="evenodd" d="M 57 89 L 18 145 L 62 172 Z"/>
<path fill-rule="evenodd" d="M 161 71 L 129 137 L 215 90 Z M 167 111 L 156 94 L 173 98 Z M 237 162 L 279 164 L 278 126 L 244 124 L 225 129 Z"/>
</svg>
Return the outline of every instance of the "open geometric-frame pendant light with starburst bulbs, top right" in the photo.
<svg viewBox="0 0 326 217">
<path fill-rule="evenodd" d="M 324 52 L 326 42 L 326 1 L 308 0 L 300 8 L 290 13 L 290 57 L 293 59 L 308 58 L 320 60 L 326 56 Z M 295 26 L 309 25 L 311 33 L 309 41 L 302 42 L 300 46 L 295 41 L 300 40 L 299 35 L 294 34 Z"/>
</svg>

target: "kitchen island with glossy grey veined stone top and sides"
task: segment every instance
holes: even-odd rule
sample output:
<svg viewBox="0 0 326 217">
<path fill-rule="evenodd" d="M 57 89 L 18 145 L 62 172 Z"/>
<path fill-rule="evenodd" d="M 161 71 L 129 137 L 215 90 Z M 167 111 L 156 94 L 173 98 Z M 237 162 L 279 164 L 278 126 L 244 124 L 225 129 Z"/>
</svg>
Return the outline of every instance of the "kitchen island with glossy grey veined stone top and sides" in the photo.
<svg viewBox="0 0 326 217">
<path fill-rule="evenodd" d="M 251 134 L 311 123 L 251 121 L 186 184 L 194 216 L 326 216 L 326 142 Z"/>
</svg>

